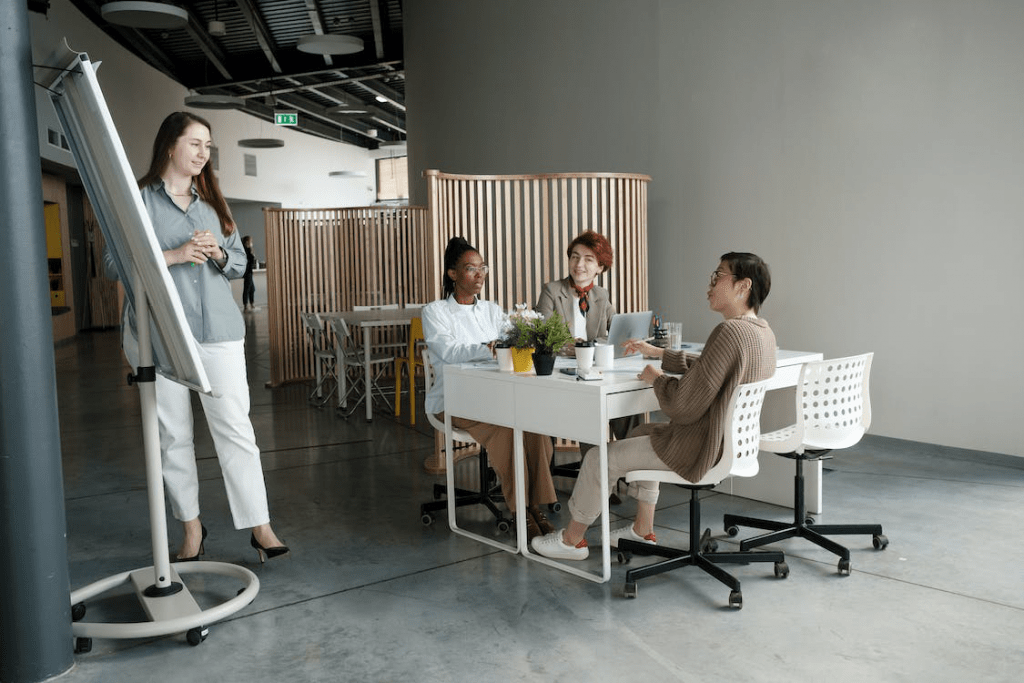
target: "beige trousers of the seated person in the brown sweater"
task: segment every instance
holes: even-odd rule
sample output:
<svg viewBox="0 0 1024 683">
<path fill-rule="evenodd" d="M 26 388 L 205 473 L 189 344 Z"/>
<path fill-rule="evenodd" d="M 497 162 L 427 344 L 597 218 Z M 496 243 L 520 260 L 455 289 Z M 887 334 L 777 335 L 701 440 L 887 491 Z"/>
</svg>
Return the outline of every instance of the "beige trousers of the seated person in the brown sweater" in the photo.
<svg viewBox="0 0 1024 683">
<path fill-rule="evenodd" d="M 643 433 L 650 425 L 641 425 L 632 433 Z M 669 466 L 654 453 L 650 436 L 635 435 L 608 443 L 608 492 L 615 489 L 615 482 L 633 470 L 668 470 Z M 577 477 L 572 497 L 569 498 L 569 515 L 572 519 L 587 524 L 601 516 L 601 458 L 595 449 L 584 456 Z M 657 503 L 659 493 L 657 481 L 635 481 L 630 484 L 629 494 L 638 501 Z"/>
</svg>

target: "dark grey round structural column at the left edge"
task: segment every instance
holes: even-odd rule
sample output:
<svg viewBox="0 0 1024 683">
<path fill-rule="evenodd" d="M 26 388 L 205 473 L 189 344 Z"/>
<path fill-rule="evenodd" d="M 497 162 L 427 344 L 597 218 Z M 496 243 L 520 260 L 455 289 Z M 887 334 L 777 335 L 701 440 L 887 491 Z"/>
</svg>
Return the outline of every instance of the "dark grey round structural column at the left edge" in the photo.
<svg viewBox="0 0 1024 683">
<path fill-rule="evenodd" d="M 39 138 L 25 0 L 0 0 L 0 681 L 71 669 Z"/>
</svg>

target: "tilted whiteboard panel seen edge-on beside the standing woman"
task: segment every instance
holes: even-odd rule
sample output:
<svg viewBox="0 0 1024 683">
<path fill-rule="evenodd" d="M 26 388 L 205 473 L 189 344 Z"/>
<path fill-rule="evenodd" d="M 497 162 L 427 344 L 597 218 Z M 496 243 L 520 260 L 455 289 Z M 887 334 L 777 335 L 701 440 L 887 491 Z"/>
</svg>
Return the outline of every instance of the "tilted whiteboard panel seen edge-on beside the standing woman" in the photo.
<svg viewBox="0 0 1024 683">
<path fill-rule="evenodd" d="M 189 388 L 210 393 L 181 299 L 174 287 L 150 214 L 142 204 L 121 137 L 96 80 L 99 63 L 77 53 L 49 86 L 85 190 L 92 202 L 125 295 L 135 305 L 137 272 L 145 288 L 157 371 Z"/>
</svg>

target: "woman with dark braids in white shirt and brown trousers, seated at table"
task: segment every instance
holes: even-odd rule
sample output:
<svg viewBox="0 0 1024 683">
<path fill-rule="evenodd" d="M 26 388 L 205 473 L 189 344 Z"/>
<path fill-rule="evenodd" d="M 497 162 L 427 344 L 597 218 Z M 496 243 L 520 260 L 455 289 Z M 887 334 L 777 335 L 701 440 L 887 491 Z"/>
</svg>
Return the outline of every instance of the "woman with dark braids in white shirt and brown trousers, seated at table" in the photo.
<svg viewBox="0 0 1024 683">
<path fill-rule="evenodd" d="M 423 307 L 423 335 L 435 358 L 434 385 L 424 399 L 424 408 L 444 419 L 444 372 L 449 364 L 486 360 L 494 357 L 495 340 L 508 325 L 508 316 L 498 304 L 479 298 L 488 268 L 480 253 L 463 238 L 453 238 L 444 250 L 444 298 Z M 512 429 L 453 417 L 452 424 L 468 431 L 487 450 L 490 466 L 502 483 L 505 504 L 515 514 L 515 471 L 512 466 Z M 526 494 L 526 536 L 532 540 L 551 533 L 554 525 L 539 506 L 557 499 L 551 479 L 551 438 L 524 433 Z M 519 522 L 520 520 L 516 520 Z"/>
</svg>

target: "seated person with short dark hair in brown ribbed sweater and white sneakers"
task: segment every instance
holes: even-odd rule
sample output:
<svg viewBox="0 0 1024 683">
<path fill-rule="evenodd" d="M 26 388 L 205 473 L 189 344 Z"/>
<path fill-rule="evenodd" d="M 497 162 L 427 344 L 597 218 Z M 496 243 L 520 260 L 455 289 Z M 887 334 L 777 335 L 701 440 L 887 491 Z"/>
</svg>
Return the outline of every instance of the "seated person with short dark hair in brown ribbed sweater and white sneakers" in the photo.
<svg viewBox="0 0 1024 683">
<path fill-rule="evenodd" d="M 771 289 L 768 264 L 754 254 L 730 252 L 712 273 L 708 288 L 711 309 L 725 318 L 716 327 L 698 357 L 683 351 L 656 348 L 642 341 L 627 342 L 629 352 L 662 358 L 666 375 L 647 366 L 639 378 L 654 387 L 668 423 L 637 427 L 630 437 L 608 444 L 608 482 L 612 485 L 631 470 L 672 470 L 688 481 L 697 481 L 722 455 L 725 413 L 733 389 L 739 384 L 768 379 L 775 372 L 775 335 L 758 317 Z M 601 514 L 601 479 L 598 458 L 585 458 L 580 469 L 564 529 L 534 539 L 537 553 L 556 559 L 586 559 L 590 551 L 584 535 Z M 618 539 L 656 543 L 654 506 L 656 481 L 639 481 L 630 494 L 637 499 L 633 524 L 612 529 L 610 545 Z"/>
</svg>

